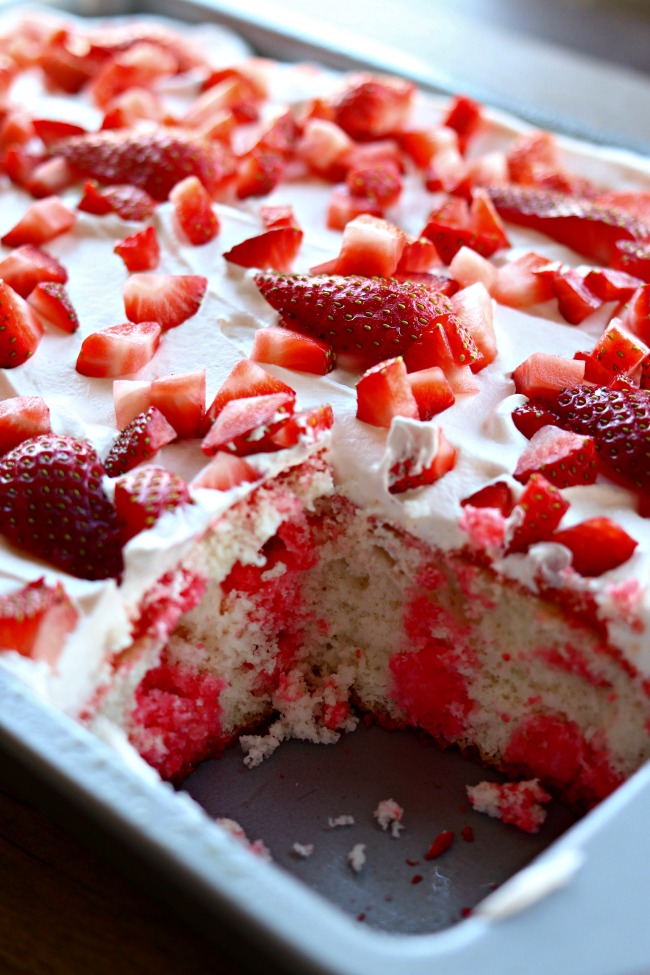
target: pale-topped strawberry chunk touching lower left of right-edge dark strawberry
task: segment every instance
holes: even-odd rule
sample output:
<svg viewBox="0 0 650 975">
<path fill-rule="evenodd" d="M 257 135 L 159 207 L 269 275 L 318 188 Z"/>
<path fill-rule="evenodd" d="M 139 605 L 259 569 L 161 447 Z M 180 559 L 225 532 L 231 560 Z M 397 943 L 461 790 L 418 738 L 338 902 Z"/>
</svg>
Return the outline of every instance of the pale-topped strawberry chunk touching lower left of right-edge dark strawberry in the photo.
<svg viewBox="0 0 650 975">
<path fill-rule="evenodd" d="M 541 427 L 517 461 L 514 476 L 526 484 L 535 473 L 558 488 L 593 484 L 598 473 L 593 438 L 556 426 Z"/>
</svg>

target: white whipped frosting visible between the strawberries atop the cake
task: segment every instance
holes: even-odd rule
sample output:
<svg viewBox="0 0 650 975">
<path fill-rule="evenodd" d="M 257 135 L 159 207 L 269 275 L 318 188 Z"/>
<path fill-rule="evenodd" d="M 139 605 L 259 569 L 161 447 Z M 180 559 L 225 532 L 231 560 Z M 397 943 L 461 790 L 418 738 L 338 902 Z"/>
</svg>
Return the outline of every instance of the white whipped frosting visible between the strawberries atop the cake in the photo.
<svg viewBox="0 0 650 975">
<path fill-rule="evenodd" d="M 232 49 L 240 53 L 237 45 Z M 299 101 L 308 95 L 327 91 L 332 76 L 311 67 L 277 67 L 269 69 L 269 78 L 279 101 Z M 162 93 L 170 106 L 178 108 L 184 99 L 196 94 L 191 84 L 170 86 Z M 37 74 L 26 74 L 12 93 L 15 104 L 29 106 L 35 116 L 66 118 L 96 127 L 97 110 L 83 100 L 62 99 L 41 89 Z M 415 115 L 419 121 L 436 121 L 444 101 L 420 97 Z M 477 152 L 503 148 L 513 134 L 526 126 L 494 113 L 490 131 L 481 137 Z M 650 189 L 650 165 L 630 154 L 582 146 L 572 140 L 561 140 L 567 165 L 622 188 Z M 295 270 L 305 271 L 334 257 L 339 250 L 340 234 L 327 230 L 325 212 L 330 184 L 310 178 L 285 182 L 264 204 L 289 202 L 305 230 L 305 241 L 295 263 Z M 71 207 L 79 198 L 78 188 L 65 194 Z M 6 177 L 0 182 L 0 235 L 22 216 L 31 198 L 18 191 Z M 185 372 L 205 367 L 208 402 L 232 366 L 250 353 L 256 329 L 275 323 L 276 313 L 259 295 L 252 280 L 253 272 L 228 265 L 223 253 L 234 244 L 261 231 L 257 216 L 260 201 L 246 201 L 241 206 L 216 207 L 221 230 L 202 247 L 184 243 L 177 232 L 170 204 L 161 205 L 154 218 L 162 247 L 161 272 L 204 274 L 208 291 L 199 313 L 181 327 L 167 332 L 153 360 L 134 379 L 149 379 L 172 372 Z M 411 233 L 419 233 L 432 208 L 433 197 L 418 180 L 407 179 L 398 205 L 387 216 Z M 125 320 L 122 285 L 127 272 L 113 253 L 114 242 L 134 233 L 141 225 L 118 217 L 95 217 L 78 213 L 75 227 L 46 246 L 69 272 L 68 291 L 81 327 L 74 335 L 46 329 L 43 341 L 30 361 L 14 370 L 0 372 L 0 395 L 41 395 L 52 411 L 55 431 L 88 437 L 104 455 L 116 435 L 112 381 L 88 379 L 75 370 L 75 361 L 83 338 L 98 328 Z M 550 259 L 578 264 L 576 255 L 539 234 L 513 232 L 513 250 L 503 260 L 534 248 Z M 0 255 L 2 249 L 0 249 Z M 603 308 L 580 327 L 559 320 L 555 304 L 539 306 L 526 313 L 495 306 L 495 329 L 499 354 L 495 362 L 478 375 L 479 392 L 461 395 L 450 409 L 427 424 L 400 420 L 387 436 L 355 417 L 358 376 L 343 369 L 315 380 L 305 374 L 268 367 L 296 389 L 302 407 L 331 403 L 335 426 L 332 431 L 332 463 L 342 489 L 355 503 L 404 525 L 410 532 L 443 547 L 465 544 L 466 536 L 458 525 L 459 500 L 484 486 L 488 481 L 509 475 L 524 447 L 525 440 L 516 430 L 510 414 L 521 402 L 514 395 L 509 378 L 512 369 L 536 351 L 552 351 L 572 356 L 577 350 L 591 348 L 593 339 L 602 331 L 612 308 Z M 455 468 L 434 485 L 403 495 L 391 495 L 387 470 L 406 445 L 415 445 L 423 466 L 435 450 L 437 427 L 458 449 Z M 388 443 L 388 447 L 387 447 Z M 300 447 L 294 460 L 305 455 Z M 196 444 L 171 445 L 162 459 L 188 479 L 205 464 Z M 160 458 L 159 458 L 160 459 Z M 273 472 L 286 458 L 278 455 L 256 457 L 264 470 Z M 183 553 L 196 532 L 225 510 L 250 488 L 243 485 L 227 493 L 208 490 L 194 492 L 195 504 L 166 515 L 154 530 L 133 539 L 125 550 L 126 571 L 121 587 L 112 581 L 89 583 L 64 577 L 70 595 L 79 603 L 82 620 L 77 633 L 65 649 L 57 672 L 43 674 L 39 666 L 26 666 L 24 660 L 5 654 L 6 666 L 27 672 L 41 689 L 47 685 L 51 695 L 66 710 L 75 711 L 86 700 L 99 680 L 106 651 L 127 644 L 129 615 L 139 598 L 155 578 L 171 567 Z M 650 623 L 650 523 L 640 518 L 628 492 L 604 480 L 588 488 L 566 491 L 571 508 L 565 524 L 572 524 L 595 514 L 611 514 L 639 543 L 633 559 L 619 569 L 595 580 L 576 581 L 592 591 L 609 615 L 615 613 L 612 584 L 628 579 L 632 572 L 641 583 L 638 605 L 644 622 Z M 564 579 L 566 549 L 557 545 L 534 546 L 528 556 L 510 556 L 499 568 L 507 576 L 531 588 L 540 573 L 549 581 Z M 35 567 L 34 560 L 22 558 L 0 539 L 0 589 L 13 588 L 37 573 L 46 578 L 61 578 L 47 566 Z M 630 658 L 645 673 L 650 673 L 650 646 L 643 634 L 633 634 L 615 621 L 610 624 L 616 639 Z M 644 647 L 645 642 L 645 647 Z"/>
</svg>

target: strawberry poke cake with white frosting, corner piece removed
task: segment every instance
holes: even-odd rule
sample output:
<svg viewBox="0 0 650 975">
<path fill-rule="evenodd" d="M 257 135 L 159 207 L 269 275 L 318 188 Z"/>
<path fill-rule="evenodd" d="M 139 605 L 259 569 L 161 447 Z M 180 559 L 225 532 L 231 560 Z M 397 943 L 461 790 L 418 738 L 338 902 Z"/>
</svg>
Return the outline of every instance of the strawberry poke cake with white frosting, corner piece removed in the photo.
<svg viewBox="0 0 650 975">
<path fill-rule="evenodd" d="M 650 165 L 199 38 L 2 25 L 2 667 L 174 782 L 367 717 L 593 805 L 650 755 Z"/>
</svg>

